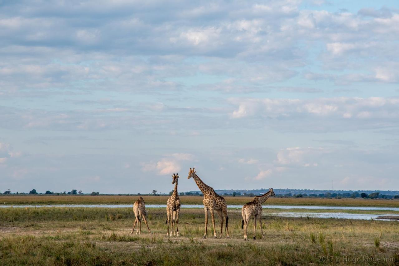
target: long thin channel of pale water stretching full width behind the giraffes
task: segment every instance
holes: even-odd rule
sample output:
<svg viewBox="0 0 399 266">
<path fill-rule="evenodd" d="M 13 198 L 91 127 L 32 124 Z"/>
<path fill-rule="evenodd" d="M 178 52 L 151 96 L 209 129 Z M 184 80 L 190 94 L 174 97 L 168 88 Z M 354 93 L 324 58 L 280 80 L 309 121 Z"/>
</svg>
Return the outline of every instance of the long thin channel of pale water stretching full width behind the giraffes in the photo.
<svg viewBox="0 0 399 266">
<path fill-rule="evenodd" d="M 1 208 L 26 207 L 70 207 L 70 208 L 131 208 L 132 204 L 57 204 L 57 205 L 0 205 Z M 147 208 L 166 208 L 166 204 L 146 204 Z M 203 205 L 182 204 L 182 208 L 203 208 Z M 227 205 L 227 208 L 241 209 L 243 205 Z M 360 211 L 399 211 L 399 207 L 352 207 L 352 206 L 302 206 L 302 205 L 263 205 L 263 209 L 308 209 L 308 210 L 360 210 Z"/>
</svg>

